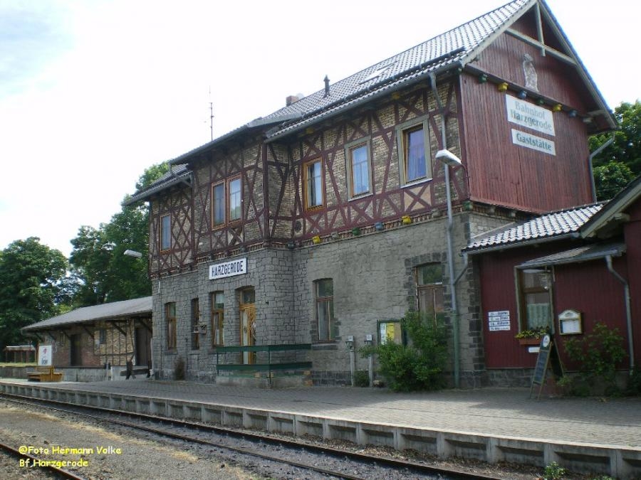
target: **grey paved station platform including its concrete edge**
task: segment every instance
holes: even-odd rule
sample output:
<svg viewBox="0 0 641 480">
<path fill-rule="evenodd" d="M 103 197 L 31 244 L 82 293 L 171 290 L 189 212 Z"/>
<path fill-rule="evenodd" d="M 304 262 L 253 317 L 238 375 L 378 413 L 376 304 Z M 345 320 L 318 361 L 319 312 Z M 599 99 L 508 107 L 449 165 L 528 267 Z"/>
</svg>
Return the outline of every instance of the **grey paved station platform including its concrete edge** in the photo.
<svg viewBox="0 0 641 480">
<path fill-rule="evenodd" d="M 640 398 L 528 398 L 529 389 L 392 393 L 256 389 L 158 380 L 28 383 L 0 391 L 293 434 L 641 478 Z M 53 394 L 51 392 L 54 392 Z"/>
</svg>

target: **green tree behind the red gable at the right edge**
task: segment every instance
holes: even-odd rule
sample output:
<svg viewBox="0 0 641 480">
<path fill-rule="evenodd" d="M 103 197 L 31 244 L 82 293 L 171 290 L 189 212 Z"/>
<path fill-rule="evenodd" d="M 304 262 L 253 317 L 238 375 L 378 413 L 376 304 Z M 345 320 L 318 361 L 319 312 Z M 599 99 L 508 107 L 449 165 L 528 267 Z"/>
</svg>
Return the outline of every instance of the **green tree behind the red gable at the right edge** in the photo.
<svg viewBox="0 0 641 480">
<path fill-rule="evenodd" d="M 614 113 L 620 129 L 614 134 L 614 142 L 594 159 L 599 200 L 612 198 L 633 178 L 641 175 L 641 102 L 622 102 Z M 611 137 L 609 133 L 590 137 L 590 150 L 595 151 Z"/>
</svg>

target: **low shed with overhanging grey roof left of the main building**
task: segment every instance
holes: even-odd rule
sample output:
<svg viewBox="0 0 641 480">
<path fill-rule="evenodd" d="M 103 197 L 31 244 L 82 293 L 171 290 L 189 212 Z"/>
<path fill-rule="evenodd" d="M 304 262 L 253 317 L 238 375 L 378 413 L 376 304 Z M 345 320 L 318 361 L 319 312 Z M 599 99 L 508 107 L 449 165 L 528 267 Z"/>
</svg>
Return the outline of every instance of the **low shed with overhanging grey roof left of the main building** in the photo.
<svg viewBox="0 0 641 480">
<path fill-rule="evenodd" d="M 150 363 L 152 297 L 85 306 L 22 331 L 38 345 L 51 345 L 51 361 L 64 380 L 103 380 L 125 370 L 127 361 L 144 368 Z"/>
</svg>

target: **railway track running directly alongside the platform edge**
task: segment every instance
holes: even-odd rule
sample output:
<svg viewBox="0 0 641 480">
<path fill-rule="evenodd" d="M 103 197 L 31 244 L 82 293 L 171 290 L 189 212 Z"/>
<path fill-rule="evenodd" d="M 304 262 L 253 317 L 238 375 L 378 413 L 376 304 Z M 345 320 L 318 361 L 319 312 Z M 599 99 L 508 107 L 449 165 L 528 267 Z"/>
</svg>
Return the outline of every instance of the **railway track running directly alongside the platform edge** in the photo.
<svg viewBox="0 0 641 480">
<path fill-rule="evenodd" d="M 407 462 L 401 459 L 380 457 L 345 449 L 301 442 L 300 439 L 286 439 L 261 434 L 259 432 L 246 432 L 215 425 L 198 422 L 189 422 L 168 417 L 158 417 L 135 412 L 113 410 L 105 407 L 91 405 L 75 405 L 56 400 L 44 400 L 14 395 L 0 394 L 0 398 L 28 406 L 46 407 L 48 410 L 64 412 L 70 415 L 82 415 L 89 420 L 110 422 L 124 428 L 132 428 L 155 434 L 160 437 L 170 438 L 187 444 L 200 444 L 216 449 L 225 449 L 235 454 L 254 457 L 255 459 L 286 464 L 303 471 L 313 471 L 320 476 L 346 480 L 367 480 L 371 478 L 425 478 L 425 479 L 486 479 L 500 480 L 499 477 L 485 476 L 478 473 L 468 473 L 454 469 L 444 469 L 437 466 Z M 124 421 L 123 417 L 129 420 Z M 239 443 L 241 446 L 239 446 Z M 271 446 L 276 452 L 268 453 Z M 298 454 L 284 454 L 283 450 L 291 450 Z M 291 452 L 290 452 L 291 453 Z M 287 459 L 298 457 L 301 461 Z M 318 466 L 326 464 L 327 459 L 337 459 L 332 463 L 332 468 Z M 304 461 L 302 460 L 304 459 Z M 365 473 L 353 473 L 365 472 Z M 78 478 L 78 477 L 68 477 Z"/>
</svg>

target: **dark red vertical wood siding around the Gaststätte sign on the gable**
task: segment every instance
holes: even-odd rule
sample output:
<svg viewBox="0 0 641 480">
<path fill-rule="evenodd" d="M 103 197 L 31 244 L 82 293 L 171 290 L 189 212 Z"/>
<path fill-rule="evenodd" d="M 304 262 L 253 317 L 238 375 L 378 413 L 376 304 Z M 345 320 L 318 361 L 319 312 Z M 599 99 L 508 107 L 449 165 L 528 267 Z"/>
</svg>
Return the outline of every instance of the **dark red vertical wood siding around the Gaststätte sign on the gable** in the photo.
<svg viewBox="0 0 641 480">
<path fill-rule="evenodd" d="M 592 201 L 585 124 L 553 114 L 554 137 L 507 119 L 505 95 L 496 85 L 462 75 L 464 142 L 470 198 L 538 212 Z M 511 129 L 554 142 L 556 155 L 512 143 Z"/>
</svg>

